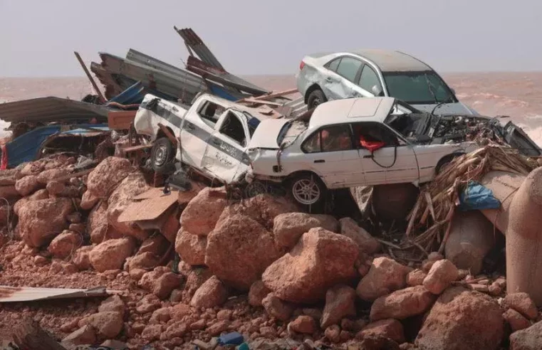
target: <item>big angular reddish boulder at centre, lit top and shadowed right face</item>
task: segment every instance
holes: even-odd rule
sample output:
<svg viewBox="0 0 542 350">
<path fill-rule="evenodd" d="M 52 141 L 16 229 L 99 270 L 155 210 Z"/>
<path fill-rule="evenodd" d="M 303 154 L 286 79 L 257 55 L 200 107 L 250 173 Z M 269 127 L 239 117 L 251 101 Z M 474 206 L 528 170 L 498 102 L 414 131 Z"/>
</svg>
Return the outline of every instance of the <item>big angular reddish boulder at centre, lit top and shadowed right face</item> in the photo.
<svg viewBox="0 0 542 350">
<path fill-rule="evenodd" d="M 350 238 L 311 228 L 290 253 L 266 269 L 262 280 L 283 300 L 316 302 L 330 287 L 355 277 L 358 252 L 358 245 Z"/>
</svg>

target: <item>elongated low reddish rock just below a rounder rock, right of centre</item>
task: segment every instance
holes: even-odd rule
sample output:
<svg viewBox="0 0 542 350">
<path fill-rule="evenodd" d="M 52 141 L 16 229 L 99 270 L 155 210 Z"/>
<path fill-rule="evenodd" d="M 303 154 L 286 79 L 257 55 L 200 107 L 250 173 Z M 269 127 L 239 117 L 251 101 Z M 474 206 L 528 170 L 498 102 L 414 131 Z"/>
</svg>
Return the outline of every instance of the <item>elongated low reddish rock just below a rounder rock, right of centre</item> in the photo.
<svg viewBox="0 0 542 350">
<path fill-rule="evenodd" d="M 408 287 L 379 297 L 372 303 L 370 319 L 406 319 L 422 314 L 437 299 L 424 286 Z"/>
</svg>

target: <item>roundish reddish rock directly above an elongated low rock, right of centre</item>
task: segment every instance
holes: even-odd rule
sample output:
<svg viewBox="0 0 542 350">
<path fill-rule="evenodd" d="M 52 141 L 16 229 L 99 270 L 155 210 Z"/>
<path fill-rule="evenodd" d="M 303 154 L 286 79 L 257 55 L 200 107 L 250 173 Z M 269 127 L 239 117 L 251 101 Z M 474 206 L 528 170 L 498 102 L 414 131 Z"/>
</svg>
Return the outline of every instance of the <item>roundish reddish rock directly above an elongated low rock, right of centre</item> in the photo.
<svg viewBox="0 0 542 350">
<path fill-rule="evenodd" d="M 374 301 L 406 285 L 406 277 L 412 269 L 390 258 L 372 260 L 371 268 L 358 284 L 356 292 L 361 299 Z"/>
</svg>

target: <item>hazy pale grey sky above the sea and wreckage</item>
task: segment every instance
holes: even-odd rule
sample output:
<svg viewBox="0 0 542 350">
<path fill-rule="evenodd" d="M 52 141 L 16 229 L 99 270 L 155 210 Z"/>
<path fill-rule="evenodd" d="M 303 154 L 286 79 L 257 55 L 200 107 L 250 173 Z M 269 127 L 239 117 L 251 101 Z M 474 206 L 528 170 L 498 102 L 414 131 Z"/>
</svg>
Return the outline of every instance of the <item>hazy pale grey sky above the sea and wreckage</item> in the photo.
<svg viewBox="0 0 542 350">
<path fill-rule="evenodd" d="M 192 27 L 238 74 L 295 73 L 303 55 L 406 51 L 442 72 L 542 70 L 540 0 L 0 0 L 0 76 L 83 72 L 129 48 L 182 67 Z"/>
</svg>

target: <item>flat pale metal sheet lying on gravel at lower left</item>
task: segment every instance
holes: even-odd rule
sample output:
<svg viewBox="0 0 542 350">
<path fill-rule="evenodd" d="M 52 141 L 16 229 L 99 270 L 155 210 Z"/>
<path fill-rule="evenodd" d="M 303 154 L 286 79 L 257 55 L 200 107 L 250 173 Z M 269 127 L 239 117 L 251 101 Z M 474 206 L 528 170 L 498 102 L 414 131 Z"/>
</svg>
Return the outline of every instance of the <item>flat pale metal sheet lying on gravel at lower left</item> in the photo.
<svg viewBox="0 0 542 350">
<path fill-rule="evenodd" d="M 0 286 L 0 302 L 32 302 L 44 299 L 69 299 L 83 297 L 105 297 L 111 291 L 105 287 L 88 290 L 68 288 L 33 288 Z"/>
</svg>

